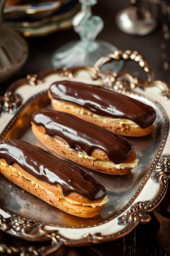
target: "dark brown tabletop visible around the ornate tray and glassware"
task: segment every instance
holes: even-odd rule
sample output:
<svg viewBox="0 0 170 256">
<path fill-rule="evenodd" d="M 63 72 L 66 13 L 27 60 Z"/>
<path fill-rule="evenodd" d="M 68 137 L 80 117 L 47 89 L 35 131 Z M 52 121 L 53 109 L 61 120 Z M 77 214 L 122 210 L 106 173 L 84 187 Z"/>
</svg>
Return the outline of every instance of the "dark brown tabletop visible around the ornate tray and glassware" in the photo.
<svg viewBox="0 0 170 256">
<path fill-rule="evenodd" d="M 93 14 L 99 15 L 104 20 L 104 29 L 97 39 L 105 40 L 121 50 L 137 51 L 148 61 L 155 78 L 170 84 L 170 69 L 163 68 L 164 55 L 161 44 L 164 43 L 161 23 L 157 29 L 146 36 L 130 36 L 117 28 L 115 23 L 116 13 L 128 7 L 128 1 L 99 0 L 93 7 Z M 29 45 L 29 58 L 22 69 L 11 79 L 0 85 L 0 95 L 3 95 L 7 87 L 17 79 L 26 77 L 27 74 L 35 74 L 41 70 L 49 69 L 51 56 L 56 49 L 69 41 L 79 39 L 79 36 L 68 29 L 57 31 L 54 34 L 38 38 L 26 38 Z M 170 43 L 167 42 L 167 50 Z M 170 51 L 169 51 L 170 52 Z M 124 66 L 124 70 L 132 76 L 143 77 L 146 74 L 135 63 L 130 61 Z M 53 256 L 166 256 L 170 255 L 170 191 L 161 204 L 151 213 L 152 220 L 147 225 L 139 225 L 129 235 L 119 240 L 90 245 L 84 247 L 61 247 Z M 18 238 L 13 238 L 0 232 L 0 243 L 8 243 L 16 247 L 39 246 Z"/>
</svg>

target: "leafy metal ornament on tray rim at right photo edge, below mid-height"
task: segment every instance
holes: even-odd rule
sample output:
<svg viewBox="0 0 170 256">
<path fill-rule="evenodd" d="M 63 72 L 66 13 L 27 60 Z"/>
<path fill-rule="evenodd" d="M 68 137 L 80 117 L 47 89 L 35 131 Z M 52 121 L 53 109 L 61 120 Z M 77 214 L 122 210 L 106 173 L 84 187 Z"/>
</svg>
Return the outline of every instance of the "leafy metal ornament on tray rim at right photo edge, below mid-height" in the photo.
<svg viewBox="0 0 170 256">
<path fill-rule="evenodd" d="M 159 162 L 157 163 L 155 170 L 152 173 L 152 180 L 155 180 L 158 183 L 162 183 L 163 180 L 168 180 L 170 175 L 170 155 L 161 155 Z"/>
</svg>

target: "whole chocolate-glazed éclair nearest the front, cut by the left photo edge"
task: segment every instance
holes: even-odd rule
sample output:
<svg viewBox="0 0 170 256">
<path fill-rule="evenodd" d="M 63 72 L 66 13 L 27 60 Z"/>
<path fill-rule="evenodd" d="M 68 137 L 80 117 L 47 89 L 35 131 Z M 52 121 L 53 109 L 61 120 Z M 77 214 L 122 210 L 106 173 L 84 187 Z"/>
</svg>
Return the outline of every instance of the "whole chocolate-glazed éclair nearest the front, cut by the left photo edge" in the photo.
<svg viewBox="0 0 170 256">
<path fill-rule="evenodd" d="M 22 189 L 74 216 L 98 216 L 108 201 L 106 189 L 91 175 L 20 139 L 0 141 L 0 172 Z"/>
</svg>

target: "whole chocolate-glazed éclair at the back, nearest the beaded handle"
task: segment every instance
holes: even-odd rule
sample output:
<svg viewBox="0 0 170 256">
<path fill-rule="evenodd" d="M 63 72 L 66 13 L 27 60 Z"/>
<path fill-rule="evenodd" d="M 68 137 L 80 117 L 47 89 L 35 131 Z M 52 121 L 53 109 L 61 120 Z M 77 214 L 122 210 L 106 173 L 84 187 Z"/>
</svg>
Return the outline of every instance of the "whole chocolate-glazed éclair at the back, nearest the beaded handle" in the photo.
<svg viewBox="0 0 170 256">
<path fill-rule="evenodd" d="M 57 81 L 48 90 L 55 110 L 71 113 L 122 136 L 141 137 L 152 132 L 156 112 L 141 101 L 97 85 Z"/>
</svg>

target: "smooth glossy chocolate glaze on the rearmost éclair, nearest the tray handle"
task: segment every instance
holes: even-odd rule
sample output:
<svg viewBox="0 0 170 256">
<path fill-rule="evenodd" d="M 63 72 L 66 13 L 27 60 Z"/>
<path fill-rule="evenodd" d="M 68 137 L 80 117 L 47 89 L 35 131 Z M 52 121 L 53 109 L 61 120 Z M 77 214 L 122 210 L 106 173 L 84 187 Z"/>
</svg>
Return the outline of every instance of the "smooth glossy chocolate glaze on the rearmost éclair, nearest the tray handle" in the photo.
<svg viewBox="0 0 170 256">
<path fill-rule="evenodd" d="M 129 119 L 141 128 L 152 125 L 156 118 L 152 107 L 99 86 L 59 81 L 52 84 L 49 91 L 53 99 L 77 104 L 97 115 Z"/>
</svg>

